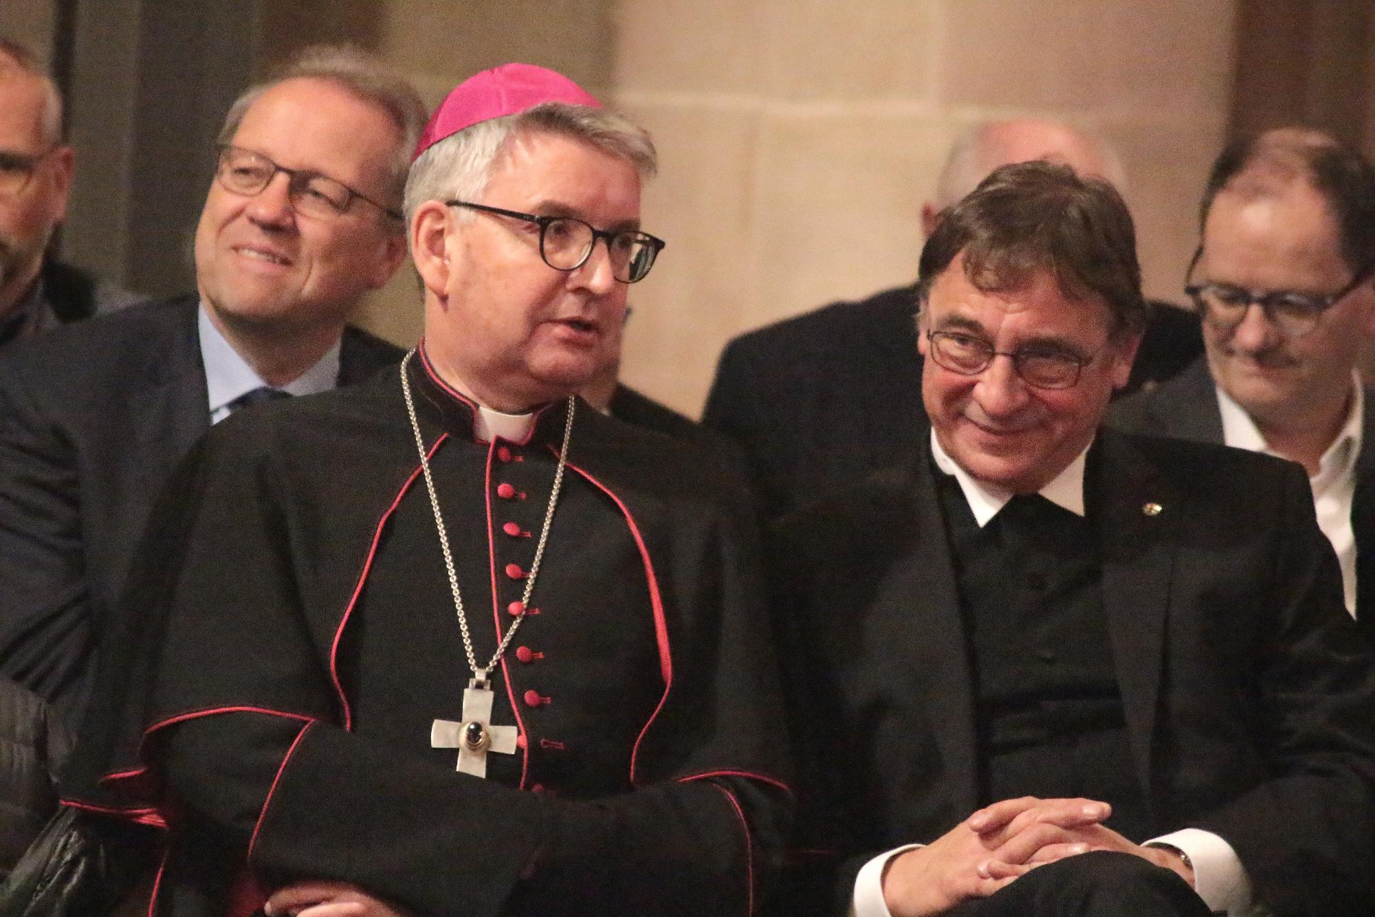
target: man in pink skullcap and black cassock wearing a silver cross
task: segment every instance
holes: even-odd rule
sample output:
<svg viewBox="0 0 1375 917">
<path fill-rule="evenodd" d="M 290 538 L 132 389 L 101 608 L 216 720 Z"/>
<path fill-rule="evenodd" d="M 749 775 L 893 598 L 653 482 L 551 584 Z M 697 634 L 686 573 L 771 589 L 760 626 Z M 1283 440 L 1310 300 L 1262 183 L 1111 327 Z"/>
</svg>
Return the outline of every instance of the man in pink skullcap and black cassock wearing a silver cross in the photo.
<svg viewBox="0 0 1375 917">
<path fill-rule="evenodd" d="M 113 741 L 77 751 L 168 791 L 91 780 L 82 802 L 186 814 L 168 913 L 763 895 L 789 796 L 747 485 L 576 395 L 664 247 L 641 227 L 654 168 L 558 73 L 459 84 L 406 186 L 419 345 L 212 430 L 169 488 L 126 606 L 135 690 L 99 692 L 129 705 L 92 709 Z M 135 628 L 142 608 L 165 626 Z"/>
</svg>

